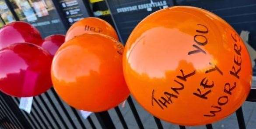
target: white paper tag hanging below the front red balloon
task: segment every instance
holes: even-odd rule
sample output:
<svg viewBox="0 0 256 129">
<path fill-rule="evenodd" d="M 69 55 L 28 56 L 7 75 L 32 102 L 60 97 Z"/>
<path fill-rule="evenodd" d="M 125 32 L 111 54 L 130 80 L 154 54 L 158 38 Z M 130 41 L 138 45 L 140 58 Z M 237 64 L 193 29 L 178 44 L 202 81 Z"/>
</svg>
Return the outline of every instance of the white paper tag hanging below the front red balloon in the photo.
<svg viewBox="0 0 256 129">
<path fill-rule="evenodd" d="M 19 108 L 30 113 L 32 107 L 33 97 L 21 98 Z"/>
</svg>

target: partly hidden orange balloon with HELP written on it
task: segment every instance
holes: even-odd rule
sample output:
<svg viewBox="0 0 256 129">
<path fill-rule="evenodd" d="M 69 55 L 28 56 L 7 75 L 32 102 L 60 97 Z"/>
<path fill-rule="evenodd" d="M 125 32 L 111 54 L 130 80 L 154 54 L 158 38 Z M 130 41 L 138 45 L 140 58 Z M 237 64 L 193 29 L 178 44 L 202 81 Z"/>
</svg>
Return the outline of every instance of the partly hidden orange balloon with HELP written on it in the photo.
<svg viewBox="0 0 256 129">
<path fill-rule="evenodd" d="M 65 41 L 84 33 L 102 33 L 119 40 L 116 30 L 108 22 L 96 17 L 87 17 L 77 21 L 68 29 Z"/>
</svg>

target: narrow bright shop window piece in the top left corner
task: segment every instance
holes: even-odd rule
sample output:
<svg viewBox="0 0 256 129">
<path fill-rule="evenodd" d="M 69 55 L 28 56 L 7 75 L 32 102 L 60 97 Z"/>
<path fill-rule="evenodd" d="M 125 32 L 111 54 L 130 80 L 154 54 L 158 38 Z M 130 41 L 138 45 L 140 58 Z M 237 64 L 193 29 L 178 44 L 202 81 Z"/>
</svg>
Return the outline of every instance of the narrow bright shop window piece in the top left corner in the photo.
<svg viewBox="0 0 256 129">
<path fill-rule="evenodd" d="M 4 0 L 0 0 L 0 16 L 0 27 L 4 26 L 4 23 L 11 23 L 15 21 L 13 15 L 11 14 L 11 11 L 7 7 L 7 4 L 4 2 Z"/>
</svg>

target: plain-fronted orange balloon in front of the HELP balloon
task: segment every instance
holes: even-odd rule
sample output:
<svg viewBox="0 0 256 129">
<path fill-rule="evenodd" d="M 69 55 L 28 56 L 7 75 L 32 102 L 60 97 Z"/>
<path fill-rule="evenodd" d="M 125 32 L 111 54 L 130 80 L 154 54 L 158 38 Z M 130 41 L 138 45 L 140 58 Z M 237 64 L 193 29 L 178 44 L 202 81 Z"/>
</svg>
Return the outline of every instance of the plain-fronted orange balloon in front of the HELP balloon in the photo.
<svg viewBox="0 0 256 129">
<path fill-rule="evenodd" d="M 109 36 L 90 33 L 60 46 L 51 69 L 59 96 L 80 110 L 101 112 L 129 95 L 123 77 L 123 45 Z"/>
</svg>

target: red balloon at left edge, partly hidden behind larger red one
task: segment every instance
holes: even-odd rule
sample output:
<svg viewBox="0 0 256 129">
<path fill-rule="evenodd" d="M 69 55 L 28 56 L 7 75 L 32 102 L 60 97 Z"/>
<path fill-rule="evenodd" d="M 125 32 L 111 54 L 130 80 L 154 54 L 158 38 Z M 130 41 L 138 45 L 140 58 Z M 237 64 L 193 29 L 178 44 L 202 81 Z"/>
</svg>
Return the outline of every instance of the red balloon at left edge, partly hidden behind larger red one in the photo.
<svg viewBox="0 0 256 129">
<path fill-rule="evenodd" d="M 34 43 L 41 45 L 42 37 L 39 31 L 29 23 L 16 21 L 5 25 L 0 30 L 0 49 L 13 43 Z"/>
</svg>

